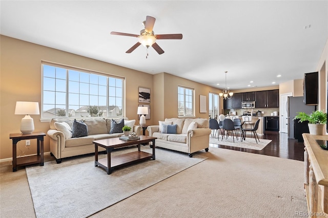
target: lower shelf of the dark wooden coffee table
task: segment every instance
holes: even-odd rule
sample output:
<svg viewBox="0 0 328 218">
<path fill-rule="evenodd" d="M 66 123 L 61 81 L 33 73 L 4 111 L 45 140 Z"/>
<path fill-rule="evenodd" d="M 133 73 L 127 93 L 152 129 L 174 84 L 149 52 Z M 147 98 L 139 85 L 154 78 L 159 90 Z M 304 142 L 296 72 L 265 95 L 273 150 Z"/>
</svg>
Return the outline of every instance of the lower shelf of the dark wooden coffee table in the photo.
<svg viewBox="0 0 328 218">
<path fill-rule="evenodd" d="M 103 158 L 98 161 L 95 161 L 95 166 L 100 166 L 101 168 L 104 168 L 107 171 L 107 173 L 110 174 L 111 171 L 113 170 L 113 168 L 115 168 L 115 167 L 125 166 L 130 163 L 148 160 L 150 158 L 153 158 L 153 155 L 148 152 L 133 151 L 133 152 L 129 152 L 127 154 L 121 154 L 121 155 L 111 157 L 110 168 L 108 167 L 108 164 L 107 164 L 108 158 Z"/>
</svg>

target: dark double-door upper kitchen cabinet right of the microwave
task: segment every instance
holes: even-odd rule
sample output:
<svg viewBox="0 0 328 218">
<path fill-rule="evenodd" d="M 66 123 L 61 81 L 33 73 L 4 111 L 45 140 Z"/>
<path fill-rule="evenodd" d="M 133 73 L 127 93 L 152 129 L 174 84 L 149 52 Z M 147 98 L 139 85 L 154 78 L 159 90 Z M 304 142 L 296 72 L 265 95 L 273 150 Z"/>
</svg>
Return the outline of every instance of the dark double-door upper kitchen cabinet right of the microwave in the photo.
<svg viewBox="0 0 328 218">
<path fill-rule="evenodd" d="M 255 92 L 255 107 L 279 107 L 279 90 Z"/>
</svg>

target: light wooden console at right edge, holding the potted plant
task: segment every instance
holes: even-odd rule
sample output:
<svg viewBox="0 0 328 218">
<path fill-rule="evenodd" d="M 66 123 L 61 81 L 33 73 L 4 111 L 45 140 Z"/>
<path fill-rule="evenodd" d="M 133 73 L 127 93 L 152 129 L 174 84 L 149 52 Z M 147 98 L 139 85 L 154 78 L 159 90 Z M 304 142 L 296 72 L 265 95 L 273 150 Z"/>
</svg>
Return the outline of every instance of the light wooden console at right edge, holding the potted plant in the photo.
<svg viewBox="0 0 328 218">
<path fill-rule="evenodd" d="M 305 194 L 309 217 L 328 217 L 328 150 L 317 140 L 326 143 L 328 135 L 302 134 L 304 139 Z"/>
</svg>

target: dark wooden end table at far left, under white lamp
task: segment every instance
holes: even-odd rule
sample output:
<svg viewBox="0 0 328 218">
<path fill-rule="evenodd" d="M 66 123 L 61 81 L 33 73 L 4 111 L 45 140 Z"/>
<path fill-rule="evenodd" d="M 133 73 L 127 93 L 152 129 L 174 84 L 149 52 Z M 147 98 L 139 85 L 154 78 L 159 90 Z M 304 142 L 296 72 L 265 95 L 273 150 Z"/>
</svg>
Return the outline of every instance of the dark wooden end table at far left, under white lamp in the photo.
<svg viewBox="0 0 328 218">
<path fill-rule="evenodd" d="M 44 165 L 44 149 L 43 149 L 43 140 L 45 133 L 42 132 L 34 132 L 31 134 L 20 134 L 13 133 L 9 134 L 10 139 L 12 139 L 12 171 L 17 171 L 18 166 L 25 166 L 29 164 L 39 163 L 40 166 Z M 37 139 L 37 154 L 25 157 L 17 158 L 17 142 L 20 140 L 28 140 L 28 139 Z"/>
</svg>

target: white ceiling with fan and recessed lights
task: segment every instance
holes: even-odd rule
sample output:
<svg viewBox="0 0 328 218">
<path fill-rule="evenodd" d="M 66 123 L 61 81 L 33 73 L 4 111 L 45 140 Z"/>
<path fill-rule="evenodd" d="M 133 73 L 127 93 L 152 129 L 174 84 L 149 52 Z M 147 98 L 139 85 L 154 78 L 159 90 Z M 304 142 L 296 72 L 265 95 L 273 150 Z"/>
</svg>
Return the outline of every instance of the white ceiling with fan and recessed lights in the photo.
<svg viewBox="0 0 328 218">
<path fill-rule="evenodd" d="M 216 88 L 269 86 L 316 70 L 328 38 L 328 1 L 1 1 L 1 34 L 138 71 Z M 158 55 L 139 46 L 146 15 Z M 311 25 L 310 28 L 304 28 Z M 76 66 L 78 67 L 78 66 Z M 276 77 L 277 75 L 281 77 Z M 250 83 L 250 81 L 254 81 Z M 217 85 L 220 83 L 220 85 Z"/>
</svg>

